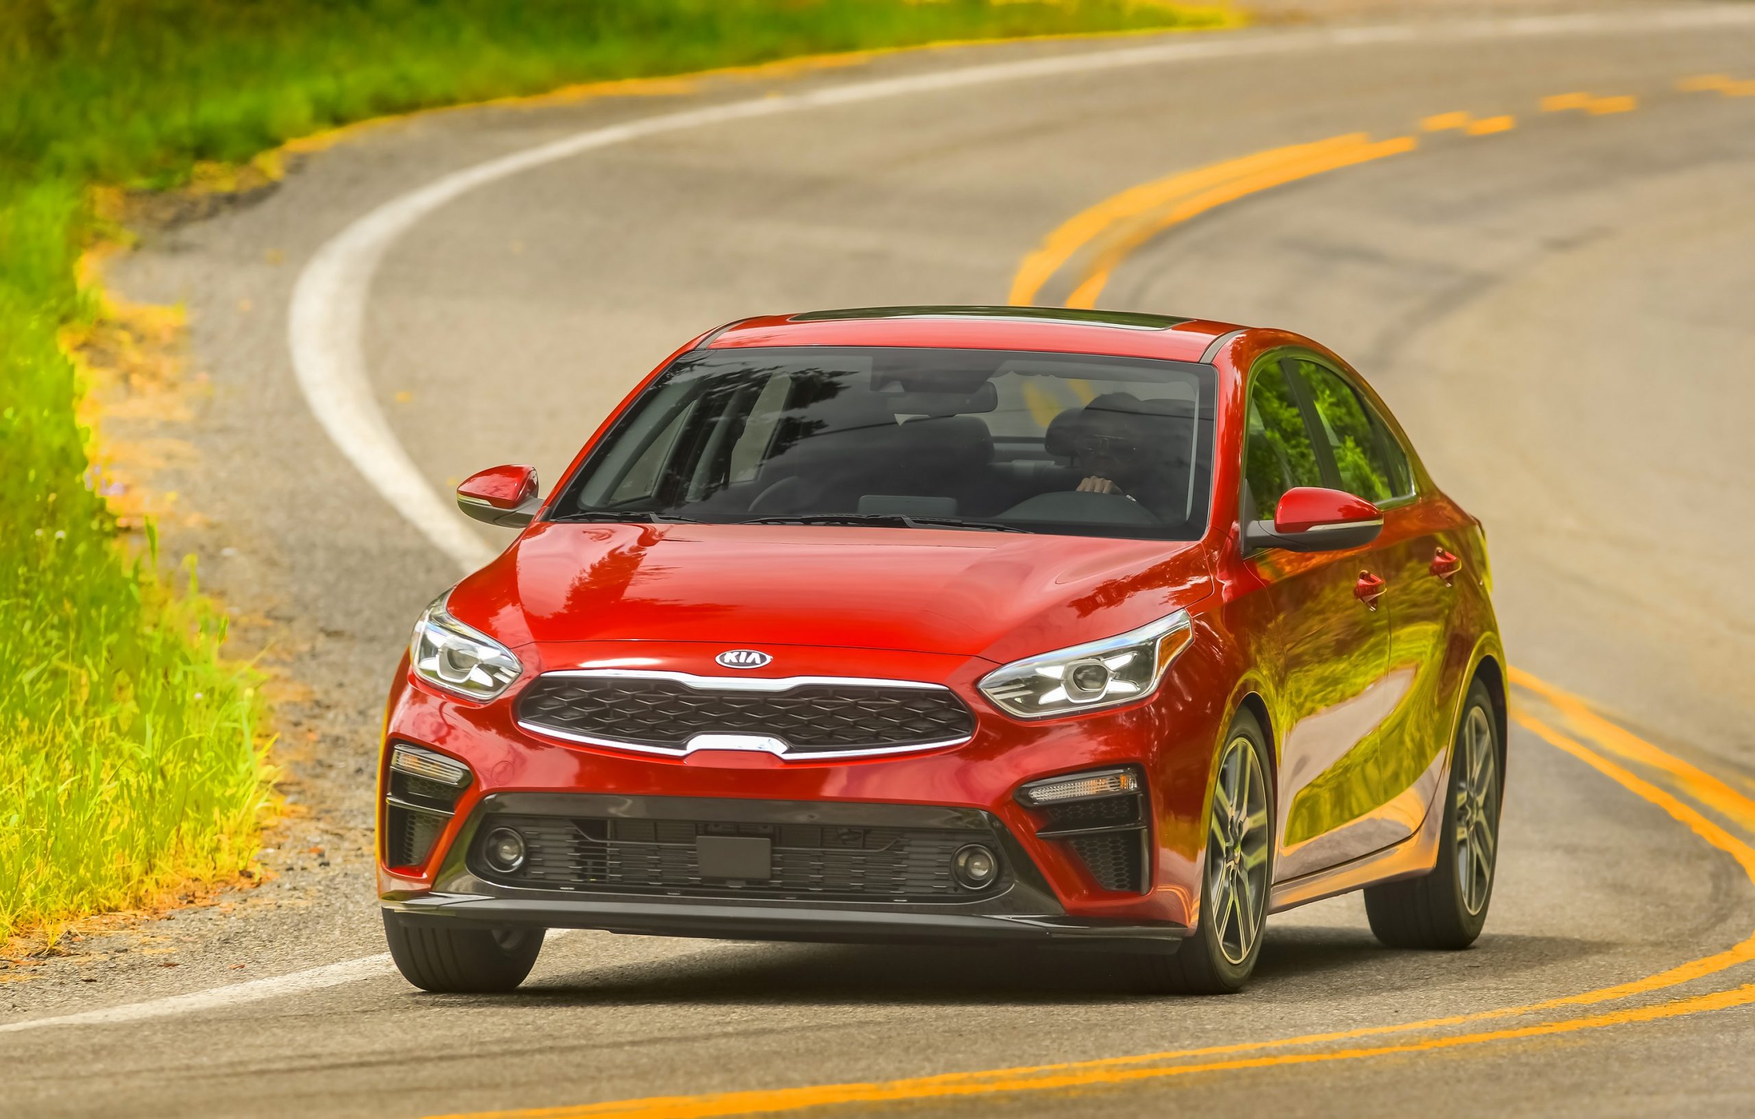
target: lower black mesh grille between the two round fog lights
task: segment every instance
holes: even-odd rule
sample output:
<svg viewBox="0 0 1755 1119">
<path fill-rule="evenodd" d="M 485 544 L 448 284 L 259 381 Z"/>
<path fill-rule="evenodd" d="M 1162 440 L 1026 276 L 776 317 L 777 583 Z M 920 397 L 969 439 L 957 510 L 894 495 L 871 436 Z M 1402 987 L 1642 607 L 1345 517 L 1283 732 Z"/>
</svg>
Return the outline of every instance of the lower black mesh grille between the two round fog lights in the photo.
<svg viewBox="0 0 1755 1119">
<path fill-rule="evenodd" d="M 986 896 L 1011 879 L 1002 868 L 992 886 L 976 891 L 951 877 L 958 847 L 979 842 L 999 852 L 990 828 L 495 814 L 477 835 L 495 828 L 525 837 L 525 865 L 500 873 L 472 854 L 470 870 L 526 889 L 909 902 Z M 721 835 L 767 838 L 770 877 L 702 879 L 697 840 Z"/>
</svg>

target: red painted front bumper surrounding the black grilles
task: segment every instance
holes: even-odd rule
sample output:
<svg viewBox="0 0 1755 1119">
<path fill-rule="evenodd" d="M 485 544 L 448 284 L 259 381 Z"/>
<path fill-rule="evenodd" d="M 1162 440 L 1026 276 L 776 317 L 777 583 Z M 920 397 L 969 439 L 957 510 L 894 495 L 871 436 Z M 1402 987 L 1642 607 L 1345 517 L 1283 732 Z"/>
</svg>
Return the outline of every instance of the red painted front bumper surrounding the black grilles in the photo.
<svg viewBox="0 0 1755 1119">
<path fill-rule="evenodd" d="M 641 644 L 632 658 L 627 644 L 604 642 L 576 647 L 523 649 L 528 672 L 555 668 L 663 668 L 709 674 L 716 645 Z M 632 658 L 632 659 L 630 659 Z M 765 752 L 704 749 L 683 758 L 635 754 L 584 742 L 567 742 L 521 726 L 514 717 L 516 698 L 470 703 L 437 695 L 407 674 L 407 663 L 391 688 L 386 719 L 386 751 L 379 768 L 379 896 L 404 912 L 430 912 L 435 919 L 460 919 L 465 914 L 504 914 L 514 903 L 539 914 L 530 924 L 579 924 L 586 928 L 656 930 L 690 935 L 693 917 L 725 905 L 744 905 L 758 912 L 737 916 L 739 928 L 760 926 L 762 935 L 800 935 L 816 931 L 841 937 L 844 928 L 813 914 L 851 912 L 865 930 L 860 938 L 888 940 L 904 924 L 927 935 L 962 937 L 986 930 L 1011 938 L 1025 935 L 1085 937 L 1090 930 L 1148 930 L 1158 937 L 1176 937 L 1197 919 L 1200 893 L 1202 812 L 1209 782 L 1211 744 L 1221 735 L 1221 702 L 1207 702 L 1207 691 L 1165 691 L 1137 707 L 1097 712 L 1079 719 L 1020 723 L 990 709 L 976 682 L 992 668 L 976 658 L 946 658 L 862 649 L 790 649 L 788 666 L 799 675 L 885 677 L 900 681 L 935 681 L 955 689 L 976 714 L 974 737 L 946 749 L 881 756 L 870 759 L 783 759 Z M 398 837 L 400 809 L 393 805 L 390 749 L 407 742 L 465 763 L 474 779 L 460 793 L 451 812 L 426 817 L 419 842 L 404 847 Z M 1025 809 L 1016 791 L 1044 777 L 1114 766 L 1137 768 L 1146 777 L 1148 798 L 1143 816 L 1150 823 L 1150 849 L 1143 856 L 1144 880 L 1137 889 L 1114 884 L 1120 875 L 1093 872 L 1088 844 L 1042 835 L 1049 821 Z M 1030 870 L 1028 889 L 1013 889 L 1007 905 L 990 912 L 969 905 L 928 902 L 930 909 L 913 916 L 942 916 L 949 921 L 935 930 L 921 923 L 863 919 L 870 912 L 844 898 L 806 902 L 790 898 L 720 898 L 667 896 L 632 898 L 625 893 L 595 896 L 593 891 L 569 891 L 553 896 L 539 891 L 526 896 L 507 882 L 470 875 L 467 851 L 472 821 L 481 817 L 486 798 L 512 795 L 609 796 L 609 798 L 695 798 L 713 800 L 727 809 L 748 802 L 802 802 L 820 809 L 851 805 L 920 807 L 941 812 L 976 812 L 992 821 L 1016 847 L 1007 863 Z M 411 854 L 419 851 L 421 854 Z M 430 854 L 425 854 L 428 852 Z M 1013 859 L 1011 854 L 1016 854 Z M 460 861 L 463 859 L 463 861 Z M 1109 868 L 1121 863 L 1109 859 Z M 1130 863 L 1137 865 L 1137 863 Z M 437 894 L 446 900 L 418 902 Z M 560 905 L 560 910 L 553 907 Z M 639 910 L 655 905 L 653 912 Z M 634 909 L 630 909 L 634 907 Z M 814 907 L 814 909 L 813 909 Z M 900 902 L 886 902 L 878 912 L 911 912 Z M 448 916 L 446 916 L 448 914 Z M 572 914 L 570 917 L 567 914 Z M 683 914 L 683 919 L 672 919 Z M 723 916 L 723 914 L 721 914 Z M 500 917 L 495 917 L 497 921 Z M 969 921 L 963 921 L 969 917 Z M 732 917 L 725 917 L 730 921 Z M 1034 923 L 1034 924 L 1032 924 Z M 1049 928 L 1051 926 L 1051 928 Z M 700 935 L 725 935 L 723 931 Z M 813 938 L 818 938 L 813 935 Z"/>
</svg>

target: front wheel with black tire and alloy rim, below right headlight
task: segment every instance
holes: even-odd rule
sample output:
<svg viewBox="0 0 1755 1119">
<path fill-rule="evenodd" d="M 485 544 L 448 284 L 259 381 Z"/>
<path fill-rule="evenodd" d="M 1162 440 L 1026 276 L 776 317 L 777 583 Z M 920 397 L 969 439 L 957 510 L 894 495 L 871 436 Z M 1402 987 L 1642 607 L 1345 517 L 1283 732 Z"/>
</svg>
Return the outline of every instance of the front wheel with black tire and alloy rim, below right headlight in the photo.
<svg viewBox="0 0 1755 1119">
<path fill-rule="evenodd" d="M 1241 833 L 1234 831 L 1237 816 L 1234 814 L 1227 823 L 1221 812 L 1221 793 L 1227 788 L 1232 747 L 1246 749 L 1253 756 L 1255 766 L 1250 772 L 1260 779 L 1260 798 L 1253 802 L 1257 805 L 1253 810 L 1244 812 L 1248 821 Z M 1160 994 L 1232 994 L 1250 982 L 1255 961 L 1262 954 L 1267 889 L 1274 880 L 1272 772 L 1262 724 L 1248 710 L 1239 710 L 1230 721 L 1230 730 L 1225 731 L 1218 775 L 1207 796 L 1207 851 L 1200 875 L 1200 917 L 1193 935 L 1183 940 L 1174 952 L 1123 958 L 1134 968 L 1141 989 Z M 1244 802 L 1250 802 L 1248 793 Z M 1227 828 L 1232 830 L 1227 831 Z M 1237 858 L 1232 858 L 1232 851 L 1227 847 L 1230 838 L 1236 838 Z M 1246 859 L 1244 852 L 1248 852 Z M 1232 866 L 1228 879 L 1227 865 Z M 1239 873 L 1246 886 L 1243 891 L 1225 884 L 1237 882 L 1236 875 Z M 1214 900 L 1216 894 L 1218 900 Z M 1232 909 L 1232 902 L 1236 902 L 1236 909 Z M 1225 905 L 1223 912 L 1220 903 Z"/>
</svg>

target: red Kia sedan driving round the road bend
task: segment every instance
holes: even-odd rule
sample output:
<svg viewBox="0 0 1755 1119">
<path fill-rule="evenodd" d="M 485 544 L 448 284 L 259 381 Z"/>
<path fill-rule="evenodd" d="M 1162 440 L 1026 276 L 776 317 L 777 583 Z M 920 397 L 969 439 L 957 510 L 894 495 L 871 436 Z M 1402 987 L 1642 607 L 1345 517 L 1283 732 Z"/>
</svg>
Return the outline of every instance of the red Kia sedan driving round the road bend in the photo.
<svg viewBox="0 0 1755 1119">
<path fill-rule="evenodd" d="M 1486 919 L 1506 668 L 1481 524 L 1279 330 L 909 307 L 706 333 L 433 602 L 390 693 L 402 973 L 544 930 L 1100 949 L 1234 991 L 1269 912 Z"/>
</svg>

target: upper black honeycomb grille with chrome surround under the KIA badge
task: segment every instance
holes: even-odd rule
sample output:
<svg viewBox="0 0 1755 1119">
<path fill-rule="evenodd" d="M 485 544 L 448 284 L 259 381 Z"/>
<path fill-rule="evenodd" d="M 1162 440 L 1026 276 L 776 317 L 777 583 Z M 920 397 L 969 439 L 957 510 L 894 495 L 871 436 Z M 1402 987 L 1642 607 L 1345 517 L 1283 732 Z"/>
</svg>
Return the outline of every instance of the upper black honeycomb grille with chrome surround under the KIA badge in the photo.
<svg viewBox="0 0 1755 1119">
<path fill-rule="evenodd" d="M 956 742 L 974 714 L 946 688 L 811 682 L 784 691 L 714 689 L 676 679 L 551 674 L 518 700 L 539 731 L 684 752 L 695 735 L 779 738 L 788 754 Z"/>
</svg>

